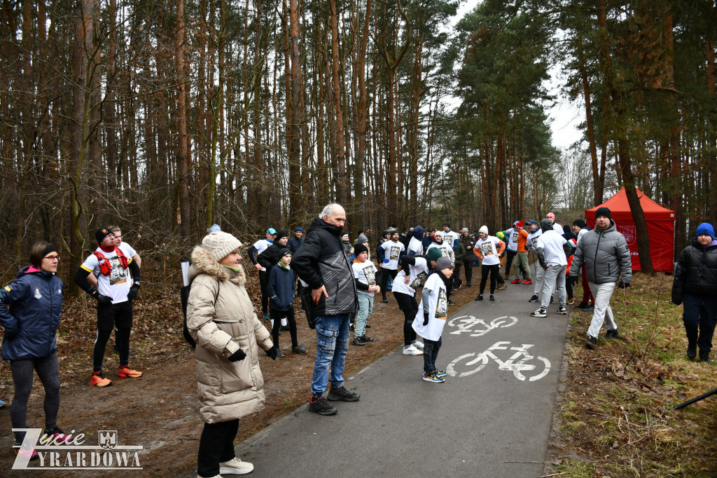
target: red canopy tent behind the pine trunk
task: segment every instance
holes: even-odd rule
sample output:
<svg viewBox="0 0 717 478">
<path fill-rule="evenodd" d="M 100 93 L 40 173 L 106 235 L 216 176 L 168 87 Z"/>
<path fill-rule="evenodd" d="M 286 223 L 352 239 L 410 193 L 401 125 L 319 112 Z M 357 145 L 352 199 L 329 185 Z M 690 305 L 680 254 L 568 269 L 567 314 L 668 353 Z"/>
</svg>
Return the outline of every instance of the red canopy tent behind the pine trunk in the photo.
<svg viewBox="0 0 717 478">
<path fill-rule="evenodd" d="M 675 250 L 675 211 L 660 206 L 657 202 L 637 189 L 637 196 L 640 197 L 642 211 L 645 212 L 647 222 L 647 234 L 650 236 L 650 255 L 652 256 L 652 268 L 655 271 L 673 271 L 673 250 Z M 640 255 L 637 253 L 637 233 L 635 222 L 632 220 L 630 205 L 627 204 L 625 188 L 601 205 L 585 211 L 585 220 L 591 228 L 595 227 L 595 211 L 598 207 L 607 207 L 610 216 L 617 226 L 617 232 L 622 233 L 627 239 L 627 245 L 632 254 L 632 270 L 640 271 Z"/>
</svg>

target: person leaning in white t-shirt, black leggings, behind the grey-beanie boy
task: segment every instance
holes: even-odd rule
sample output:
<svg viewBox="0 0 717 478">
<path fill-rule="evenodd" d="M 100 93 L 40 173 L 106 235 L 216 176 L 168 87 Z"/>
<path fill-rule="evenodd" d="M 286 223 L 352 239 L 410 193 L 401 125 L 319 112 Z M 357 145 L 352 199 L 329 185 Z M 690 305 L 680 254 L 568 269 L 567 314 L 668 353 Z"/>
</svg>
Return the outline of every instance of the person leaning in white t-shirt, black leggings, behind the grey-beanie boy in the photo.
<svg viewBox="0 0 717 478">
<path fill-rule="evenodd" d="M 431 273 L 431 265 L 423 256 L 403 256 L 401 270 L 396 276 L 391 292 L 394 293 L 399 309 L 404 313 L 404 350 L 403 355 L 423 355 L 423 342 L 417 339 L 413 321 L 418 314 L 416 289 L 426 281 Z"/>
</svg>

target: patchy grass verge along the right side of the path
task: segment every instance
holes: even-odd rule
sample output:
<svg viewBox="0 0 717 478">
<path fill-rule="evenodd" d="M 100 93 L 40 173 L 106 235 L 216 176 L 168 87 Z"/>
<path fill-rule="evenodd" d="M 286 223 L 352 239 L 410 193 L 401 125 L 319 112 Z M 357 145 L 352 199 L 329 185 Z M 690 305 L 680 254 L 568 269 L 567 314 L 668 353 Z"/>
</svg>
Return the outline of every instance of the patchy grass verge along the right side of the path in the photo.
<svg viewBox="0 0 717 478">
<path fill-rule="evenodd" d="M 670 304 L 671 286 L 671 276 L 635 273 L 630 289 L 616 289 L 611 306 L 622 338 L 601 337 L 594 351 L 584 347 L 589 317 L 572 314 L 560 426 L 566 446 L 549 457 L 561 461 L 558 476 L 717 473 L 715 402 L 672 409 L 717 386 L 717 366 L 687 359 L 683 309 Z"/>
</svg>

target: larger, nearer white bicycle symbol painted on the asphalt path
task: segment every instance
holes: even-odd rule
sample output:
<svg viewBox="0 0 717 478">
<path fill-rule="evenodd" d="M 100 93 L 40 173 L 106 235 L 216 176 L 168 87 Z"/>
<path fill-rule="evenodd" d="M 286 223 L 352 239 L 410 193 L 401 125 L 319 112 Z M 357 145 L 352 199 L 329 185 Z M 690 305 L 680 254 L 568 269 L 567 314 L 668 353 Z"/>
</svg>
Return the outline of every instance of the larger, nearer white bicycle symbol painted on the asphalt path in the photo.
<svg viewBox="0 0 717 478">
<path fill-rule="evenodd" d="M 534 382 L 548 375 L 550 372 L 550 361 L 540 355 L 533 356 L 528 353 L 528 349 L 533 344 L 523 344 L 521 347 L 508 347 L 511 342 L 495 342 L 488 347 L 485 352 L 476 354 L 461 355 L 453 360 L 446 367 L 446 372 L 452 377 L 466 377 L 473 375 L 475 372 L 483 370 L 488 365 L 488 359 L 494 360 L 498 364 L 498 370 L 510 370 L 518 380 L 526 380 Z M 493 353 L 494 350 L 513 350 L 515 353 L 508 360 L 500 360 L 498 355 Z M 471 360 L 471 357 L 475 357 Z M 467 360 L 467 362 L 465 362 Z M 475 367 L 474 367 L 475 366 Z M 535 374 L 535 375 L 533 375 Z M 533 375 L 528 377 L 528 375 Z"/>
</svg>

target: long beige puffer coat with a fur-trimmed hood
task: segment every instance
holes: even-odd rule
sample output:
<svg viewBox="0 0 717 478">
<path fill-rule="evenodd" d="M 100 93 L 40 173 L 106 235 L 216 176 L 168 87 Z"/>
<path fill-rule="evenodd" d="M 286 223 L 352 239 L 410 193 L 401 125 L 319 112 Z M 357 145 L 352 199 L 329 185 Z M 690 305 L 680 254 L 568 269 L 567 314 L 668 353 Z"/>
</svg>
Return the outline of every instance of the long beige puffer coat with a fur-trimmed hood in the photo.
<svg viewBox="0 0 717 478">
<path fill-rule="evenodd" d="M 192 250 L 186 322 L 196 340 L 199 414 L 206 423 L 234 420 L 264 408 L 258 347 L 266 351 L 273 344 L 254 313 L 246 282 L 243 268 L 235 272 L 222 266 L 201 245 Z M 229 362 L 227 357 L 239 348 L 247 357 Z"/>
</svg>

